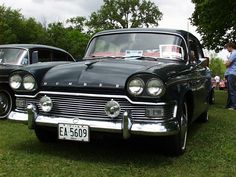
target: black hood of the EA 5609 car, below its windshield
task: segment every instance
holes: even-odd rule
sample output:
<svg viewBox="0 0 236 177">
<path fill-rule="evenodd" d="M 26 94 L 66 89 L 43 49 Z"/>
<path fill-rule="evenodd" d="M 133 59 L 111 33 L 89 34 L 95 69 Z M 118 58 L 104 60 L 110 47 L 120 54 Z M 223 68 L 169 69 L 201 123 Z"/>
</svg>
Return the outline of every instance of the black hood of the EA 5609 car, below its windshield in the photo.
<svg viewBox="0 0 236 177">
<path fill-rule="evenodd" d="M 44 86 L 123 88 L 126 80 L 135 73 L 145 72 L 157 74 L 160 77 L 167 76 L 168 68 L 172 66 L 173 69 L 173 65 L 179 64 L 122 59 L 82 61 L 50 69 L 45 74 L 42 84 Z"/>
</svg>

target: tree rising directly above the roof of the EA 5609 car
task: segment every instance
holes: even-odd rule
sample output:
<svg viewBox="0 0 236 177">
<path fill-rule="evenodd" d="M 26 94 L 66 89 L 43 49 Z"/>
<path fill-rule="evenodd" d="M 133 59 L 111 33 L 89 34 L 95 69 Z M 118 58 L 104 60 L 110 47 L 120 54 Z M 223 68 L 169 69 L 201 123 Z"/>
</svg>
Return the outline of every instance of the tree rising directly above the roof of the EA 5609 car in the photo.
<svg viewBox="0 0 236 177">
<path fill-rule="evenodd" d="M 162 18 L 155 3 L 147 0 L 103 0 L 87 25 L 95 30 L 158 26 Z"/>
</svg>

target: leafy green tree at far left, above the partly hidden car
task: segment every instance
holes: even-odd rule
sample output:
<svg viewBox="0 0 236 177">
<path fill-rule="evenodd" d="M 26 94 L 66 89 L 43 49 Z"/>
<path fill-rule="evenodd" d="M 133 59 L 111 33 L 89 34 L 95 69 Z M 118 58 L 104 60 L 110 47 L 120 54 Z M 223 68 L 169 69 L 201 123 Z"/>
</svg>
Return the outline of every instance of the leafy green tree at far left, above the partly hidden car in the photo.
<svg viewBox="0 0 236 177">
<path fill-rule="evenodd" d="M 19 10 L 0 6 L 0 44 L 42 43 L 46 30 L 33 18 L 25 19 Z"/>
</svg>

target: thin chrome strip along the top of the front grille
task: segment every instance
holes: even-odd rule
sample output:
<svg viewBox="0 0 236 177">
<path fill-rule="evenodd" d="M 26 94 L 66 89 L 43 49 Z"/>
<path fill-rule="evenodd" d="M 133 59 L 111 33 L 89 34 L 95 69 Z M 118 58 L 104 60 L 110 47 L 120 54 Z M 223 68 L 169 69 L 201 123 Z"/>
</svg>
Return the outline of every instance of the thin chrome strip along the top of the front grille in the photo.
<svg viewBox="0 0 236 177">
<path fill-rule="evenodd" d="M 123 98 L 129 101 L 131 104 L 137 104 L 137 105 L 155 105 L 155 106 L 163 106 L 166 105 L 164 102 L 159 103 L 153 103 L 153 102 L 137 102 L 132 101 L 128 96 L 126 95 L 103 95 L 103 94 L 87 94 L 87 93 L 71 93 L 71 92 L 51 92 L 51 91 L 40 91 L 36 93 L 35 95 L 18 95 L 15 94 L 16 97 L 20 98 L 35 98 L 39 94 L 51 94 L 51 95 L 66 95 L 66 96 L 84 96 L 84 97 L 97 97 L 97 98 Z"/>
</svg>

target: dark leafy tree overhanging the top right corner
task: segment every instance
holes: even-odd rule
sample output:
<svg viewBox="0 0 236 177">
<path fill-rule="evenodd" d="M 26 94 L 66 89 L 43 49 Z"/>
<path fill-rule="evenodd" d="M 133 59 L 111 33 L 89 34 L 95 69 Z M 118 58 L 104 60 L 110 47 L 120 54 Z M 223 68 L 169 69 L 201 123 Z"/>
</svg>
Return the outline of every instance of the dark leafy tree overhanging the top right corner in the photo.
<svg viewBox="0 0 236 177">
<path fill-rule="evenodd" d="M 236 40 L 236 1 L 192 0 L 195 10 L 191 23 L 197 26 L 203 45 L 215 51 Z"/>
</svg>

